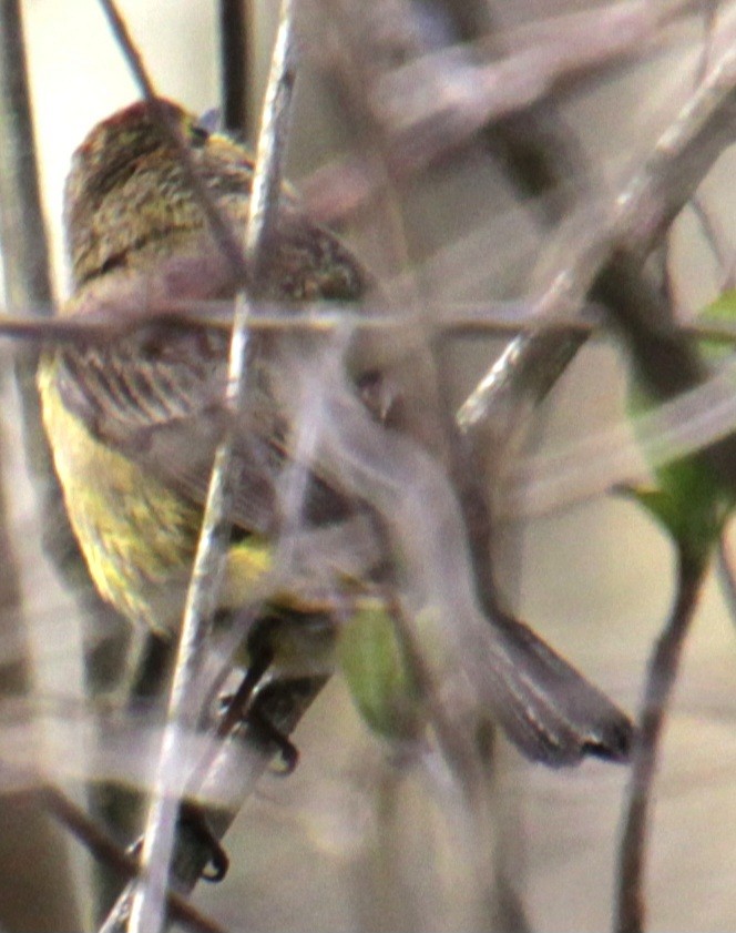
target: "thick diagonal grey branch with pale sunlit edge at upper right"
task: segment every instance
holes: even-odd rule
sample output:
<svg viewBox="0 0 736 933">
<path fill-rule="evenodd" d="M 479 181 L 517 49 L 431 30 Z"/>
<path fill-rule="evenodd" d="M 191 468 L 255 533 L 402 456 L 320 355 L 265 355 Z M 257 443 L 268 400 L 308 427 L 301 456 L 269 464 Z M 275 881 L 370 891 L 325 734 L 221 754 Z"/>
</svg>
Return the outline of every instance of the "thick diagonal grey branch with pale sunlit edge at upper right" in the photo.
<svg viewBox="0 0 736 933">
<path fill-rule="evenodd" d="M 628 255 L 643 263 L 732 142 L 736 134 L 735 69 L 736 52 L 730 50 L 660 136 L 643 166 L 612 197 L 607 213 L 585 225 L 576 245 L 566 251 L 572 258 L 561 262 L 548 277 L 538 305 L 541 326 L 544 318 L 553 320 L 580 306 L 606 276 L 606 304 L 613 287 L 623 292 L 619 296 L 623 303 L 631 302 L 631 295 L 621 288 L 622 263 L 611 264 L 616 245 L 626 244 Z M 630 284 L 640 281 L 632 263 L 623 272 Z M 508 449 L 528 414 L 545 397 L 583 343 L 580 334 L 543 329 L 513 341 L 458 412 L 459 424 L 473 448 L 483 452 L 487 460 L 498 456 L 499 449 Z M 692 352 L 686 351 L 686 355 L 692 362 Z M 653 376 L 658 375 L 652 373 L 651 362 L 641 362 Z M 683 384 L 687 385 L 686 378 Z"/>
</svg>

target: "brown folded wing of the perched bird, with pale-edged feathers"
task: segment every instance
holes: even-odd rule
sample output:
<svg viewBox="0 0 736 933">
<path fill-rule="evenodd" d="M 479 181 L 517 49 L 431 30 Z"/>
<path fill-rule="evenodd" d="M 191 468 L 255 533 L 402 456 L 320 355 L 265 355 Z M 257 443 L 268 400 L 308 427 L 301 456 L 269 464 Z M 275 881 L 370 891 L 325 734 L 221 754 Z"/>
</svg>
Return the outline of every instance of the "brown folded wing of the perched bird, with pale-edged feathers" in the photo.
<svg viewBox="0 0 736 933">
<path fill-rule="evenodd" d="M 227 425 L 228 342 L 225 331 L 160 322 L 114 339 L 60 346 L 59 392 L 93 437 L 201 504 Z M 242 529 L 268 534 L 278 525 L 286 433 L 275 405 L 256 385 L 235 432 L 239 475 L 231 517 Z M 325 524 L 349 508 L 311 474 L 304 510 L 306 520 Z"/>
</svg>

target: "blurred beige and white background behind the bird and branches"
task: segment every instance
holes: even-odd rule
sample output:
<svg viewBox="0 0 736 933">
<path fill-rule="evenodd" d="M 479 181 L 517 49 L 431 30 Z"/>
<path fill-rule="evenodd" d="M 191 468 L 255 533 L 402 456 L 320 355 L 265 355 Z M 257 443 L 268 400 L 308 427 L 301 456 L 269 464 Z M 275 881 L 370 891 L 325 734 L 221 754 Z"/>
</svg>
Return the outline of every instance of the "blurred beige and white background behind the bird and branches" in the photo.
<svg viewBox="0 0 736 933">
<path fill-rule="evenodd" d="M 62 189 L 71 153 L 96 121 L 137 93 L 93 0 L 25 0 L 21 6 L 44 214 L 61 300 L 68 287 Z M 521 42 L 523 29 L 540 22 L 637 4 L 480 0 L 467 4 L 463 26 L 456 9 L 462 3 L 413 2 L 407 6 L 417 34 L 408 38 L 391 32 L 393 6 L 403 4 L 386 4 L 387 45 L 413 42 L 439 50 L 468 41 L 462 30 L 473 10 L 478 34 L 495 37 L 501 50 L 504 37 Z M 641 6 L 652 12 L 648 33 L 634 36 L 611 60 L 569 68 L 531 103 L 540 119 L 553 119 L 558 131 L 564 129 L 563 141 L 587 164 L 591 204 L 606 202 L 641 166 L 692 94 L 704 61 L 717 51 L 708 33 L 714 4 L 652 0 Z M 715 6 L 727 22 L 733 4 Z M 248 0 L 245 7 L 251 73 L 246 136 L 253 140 L 277 3 Z M 362 145 L 335 104 L 329 69 L 320 67 L 320 54 L 327 58 L 335 41 L 325 12 L 330 7 L 304 4 L 307 26 L 288 155 L 297 186 L 300 180 L 314 181 L 336 154 L 349 155 Z M 219 10 L 214 0 L 125 0 L 121 11 L 162 94 L 195 112 L 219 105 Z M 667 17 L 656 21 L 657 11 Z M 572 28 L 572 22 L 560 20 L 560 28 Z M 318 41 L 323 33 L 324 49 Z M 583 31 L 581 55 L 585 48 Z M 447 72 L 448 87 L 454 78 Z M 408 260 L 391 255 L 380 212 L 344 229 L 379 277 L 405 272 L 415 277 L 417 293 L 437 306 L 525 298 L 533 290 L 533 270 L 564 254 L 570 242 L 564 202 L 560 207 L 555 201 L 564 192 L 520 195 L 498 153 L 476 145 L 476 136 L 471 140 L 472 145 L 463 143 L 402 184 L 398 204 Z M 736 206 L 732 178 L 726 152 L 701 189 L 702 203 L 725 231 L 726 253 Z M 580 179 L 573 172 L 564 181 L 574 186 Z M 553 220 L 540 223 L 540 215 Z M 666 263 L 683 316 L 714 297 L 728 273 L 689 210 L 671 232 Z M 458 403 L 503 346 L 499 338 L 477 335 L 454 342 L 448 365 Z M 8 364 L 6 347 L 2 354 Z M 534 414 L 525 452 L 544 457 L 596 430 L 621 426 L 625 371 L 613 341 L 592 341 Z M 18 580 L 8 617 L 20 622 L 28 639 L 33 697 L 59 709 L 68 701 L 83 708 L 82 648 L 89 631 L 76 623 L 68 587 L 43 555 L 43 514 L 28 477 L 21 409 L 7 375 L 2 387 L 3 495 Z M 514 611 L 633 714 L 647 656 L 669 609 L 673 549 L 632 500 L 604 489 L 576 498 L 541 515 L 522 509 L 507 516 L 495 574 Z M 12 642 L 7 650 L 12 653 Z M 735 675 L 736 631 L 712 575 L 686 647 L 656 782 L 646 868 L 654 930 L 725 931 L 736 921 L 728 858 L 736 842 Z M 58 770 L 70 792 L 83 800 L 83 778 L 95 765 L 79 760 L 79 750 L 65 760 L 61 736 L 67 732 L 54 721 L 51 717 L 41 730 L 39 749 L 50 755 L 49 769 Z M 35 741 L 35 731 L 33 736 Z M 500 739 L 493 767 L 492 856 L 498 874 L 487 879 L 483 890 L 458 828 L 457 800 L 448 804 L 451 794 L 442 774 L 393 763 L 361 724 L 339 678 L 319 694 L 294 740 L 301 752 L 296 772 L 288 779 L 265 774 L 226 836 L 232 859 L 227 880 L 200 885 L 195 893 L 196 902 L 227 929 L 611 926 L 625 768 L 586 762 L 574 771 L 550 771 L 523 761 Z M 38 835 L 24 829 L 27 817 L 13 825 L 16 811 L 13 803 L 0 813 L 0 863 L 8 881 L 0 886 L 12 890 L 0 902 L 0 927 L 92 929 L 90 862 L 54 830 L 47 836 L 43 826 Z M 50 855 L 48 864 L 39 849 Z"/>
</svg>

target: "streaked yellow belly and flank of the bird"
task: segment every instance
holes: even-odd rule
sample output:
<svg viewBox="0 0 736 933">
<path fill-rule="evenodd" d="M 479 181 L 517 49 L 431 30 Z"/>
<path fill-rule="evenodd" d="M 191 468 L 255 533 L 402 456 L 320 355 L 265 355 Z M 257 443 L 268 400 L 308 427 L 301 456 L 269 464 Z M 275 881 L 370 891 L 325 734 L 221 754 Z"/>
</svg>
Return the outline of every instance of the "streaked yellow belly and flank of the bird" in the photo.
<svg viewBox="0 0 736 933">
<path fill-rule="evenodd" d="M 94 438 L 69 412 L 47 354 L 39 367 L 43 422 L 69 518 L 95 586 L 120 612 L 163 633 L 180 625 L 202 509 Z M 244 605 L 272 568 L 258 535 L 231 548 L 223 607 Z"/>
</svg>

